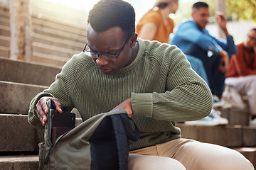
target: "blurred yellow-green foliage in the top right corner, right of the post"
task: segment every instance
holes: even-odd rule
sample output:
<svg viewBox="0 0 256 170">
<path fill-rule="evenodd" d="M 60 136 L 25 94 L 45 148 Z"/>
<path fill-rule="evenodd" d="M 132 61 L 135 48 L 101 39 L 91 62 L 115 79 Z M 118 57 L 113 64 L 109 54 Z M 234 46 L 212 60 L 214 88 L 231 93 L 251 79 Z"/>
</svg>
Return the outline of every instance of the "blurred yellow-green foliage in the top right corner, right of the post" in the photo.
<svg viewBox="0 0 256 170">
<path fill-rule="evenodd" d="M 256 22 L 255 0 L 226 0 L 227 14 L 238 20 L 252 20 Z"/>
</svg>

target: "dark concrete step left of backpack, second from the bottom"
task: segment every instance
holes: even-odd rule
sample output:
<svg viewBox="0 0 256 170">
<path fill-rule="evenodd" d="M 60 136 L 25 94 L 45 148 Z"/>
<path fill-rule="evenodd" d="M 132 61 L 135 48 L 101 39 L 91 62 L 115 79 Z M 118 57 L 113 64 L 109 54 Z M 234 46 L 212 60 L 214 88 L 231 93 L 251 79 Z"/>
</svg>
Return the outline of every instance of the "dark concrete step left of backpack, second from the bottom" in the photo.
<svg viewBox="0 0 256 170">
<path fill-rule="evenodd" d="M 44 141 L 44 129 L 33 128 L 28 115 L 0 113 L 0 120 L 0 155 L 38 152 L 38 143 Z M 82 119 L 76 118 L 76 125 L 80 123 Z"/>
</svg>

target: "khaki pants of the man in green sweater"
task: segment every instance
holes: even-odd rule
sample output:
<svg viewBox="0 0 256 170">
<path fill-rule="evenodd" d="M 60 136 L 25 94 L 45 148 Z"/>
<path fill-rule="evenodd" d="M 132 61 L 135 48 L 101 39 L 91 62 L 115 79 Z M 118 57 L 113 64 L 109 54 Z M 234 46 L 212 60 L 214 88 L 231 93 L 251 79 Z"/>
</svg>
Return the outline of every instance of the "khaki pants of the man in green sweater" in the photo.
<svg viewBox="0 0 256 170">
<path fill-rule="evenodd" d="M 129 152 L 129 170 L 247 170 L 252 164 L 239 152 L 195 140 L 177 139 Z"/>
</svg>

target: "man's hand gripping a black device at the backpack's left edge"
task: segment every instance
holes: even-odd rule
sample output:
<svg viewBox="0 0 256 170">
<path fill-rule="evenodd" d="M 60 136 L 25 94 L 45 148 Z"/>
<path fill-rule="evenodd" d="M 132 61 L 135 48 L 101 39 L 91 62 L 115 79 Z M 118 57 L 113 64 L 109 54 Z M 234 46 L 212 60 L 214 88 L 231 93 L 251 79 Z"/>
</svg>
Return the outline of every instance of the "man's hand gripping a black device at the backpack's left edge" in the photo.
<svg viewBox="0 0 256 170">
<path fill-rule="evenodd" d="M 46 125 L 46 121 L 47 121 L 47 115 L 46 114 L 48 113 L 48 106 L 46 104 L 46 101 L 48 101 L 50 99 L 52 99 L 54 101 L 56 110 L 59 113 L 63 112 L 61 110 L 60 101 L 58 101 L 57 98 L 51 98 L 51 97 L 42 97 L 42 98 L 40 98 L 38 103 L 36 103 L 36 114 L 38 115 L 38 118 L 41 121 L 43 126 Z"/>
</svg>

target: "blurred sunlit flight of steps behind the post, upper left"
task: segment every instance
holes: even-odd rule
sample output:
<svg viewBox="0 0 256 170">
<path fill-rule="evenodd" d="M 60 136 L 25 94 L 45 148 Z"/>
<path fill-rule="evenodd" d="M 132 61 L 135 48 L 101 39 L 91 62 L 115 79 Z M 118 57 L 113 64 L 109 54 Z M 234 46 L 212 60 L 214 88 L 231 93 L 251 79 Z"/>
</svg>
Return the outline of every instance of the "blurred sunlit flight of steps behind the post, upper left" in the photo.
<svg viewBox="0 0 256 170">
<path fill-rule="evenodd" d="M 9 1 L 0 1 L 0 57 L 10 54 Z M 86 43 L 87 12 L 50 1 L 31 1 L 32 62 L 63 66 Z M 53 12 L 54 11 L 54 12 Z"/>
</svg>

